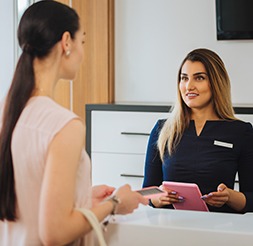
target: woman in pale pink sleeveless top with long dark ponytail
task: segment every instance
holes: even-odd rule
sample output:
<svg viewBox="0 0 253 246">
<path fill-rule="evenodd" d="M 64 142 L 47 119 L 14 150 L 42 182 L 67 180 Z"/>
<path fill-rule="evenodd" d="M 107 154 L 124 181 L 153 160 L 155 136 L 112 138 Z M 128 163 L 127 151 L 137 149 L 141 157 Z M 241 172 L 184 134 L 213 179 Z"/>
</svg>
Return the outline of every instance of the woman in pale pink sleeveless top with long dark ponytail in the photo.
<svg viewBox="0 0 253 246">
<path fill-rule="evenodd" d="M 77 13 L 39 1 L 23 14 L 18 40 L 23 52 L 0 110 L 0 245 L 83 245 L 91 225 L 78 208 L 102 221 L 147 200 L 129 185 L 91 187 L 84 125 L 52 99 L 83 58 Z"/>
</svg>

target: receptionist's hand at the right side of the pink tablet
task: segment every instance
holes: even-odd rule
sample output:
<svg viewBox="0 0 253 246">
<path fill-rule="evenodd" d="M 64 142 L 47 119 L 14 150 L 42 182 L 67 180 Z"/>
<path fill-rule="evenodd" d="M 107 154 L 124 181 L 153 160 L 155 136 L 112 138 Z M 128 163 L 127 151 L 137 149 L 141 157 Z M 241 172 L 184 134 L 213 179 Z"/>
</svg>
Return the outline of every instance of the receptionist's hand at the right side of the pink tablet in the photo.
<svg viewBox="0 0 253 246">
<path fill-rule="evenodd" d="M 210 192 L 202 196 L 202 199 L 209 205 L 214 207 L 222 207 L 229 201 L 231 189 L 225 184 L 220 184 L 217 187 L 217 191 Z"/>
</svg>

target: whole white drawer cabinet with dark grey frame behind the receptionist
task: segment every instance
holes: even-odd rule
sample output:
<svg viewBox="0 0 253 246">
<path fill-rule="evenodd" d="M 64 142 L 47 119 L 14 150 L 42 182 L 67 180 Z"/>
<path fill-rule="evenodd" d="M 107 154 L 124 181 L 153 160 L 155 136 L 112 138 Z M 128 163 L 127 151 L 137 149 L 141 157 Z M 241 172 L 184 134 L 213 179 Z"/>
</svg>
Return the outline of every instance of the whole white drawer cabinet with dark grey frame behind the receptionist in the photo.
<svg viewBox="0 0 253 246">
<path fill-rule="evenodd" d="M 86 105 L 86 149 L 92 160 L 93 184 L 119 187 L 129 183 L 140 189 L 150 131 L 158 119 L 169 117 L 169 109 L 162 105 Z M 253 108 L 235 107 L 235 112 L 253 124 Z"/>
</svg>

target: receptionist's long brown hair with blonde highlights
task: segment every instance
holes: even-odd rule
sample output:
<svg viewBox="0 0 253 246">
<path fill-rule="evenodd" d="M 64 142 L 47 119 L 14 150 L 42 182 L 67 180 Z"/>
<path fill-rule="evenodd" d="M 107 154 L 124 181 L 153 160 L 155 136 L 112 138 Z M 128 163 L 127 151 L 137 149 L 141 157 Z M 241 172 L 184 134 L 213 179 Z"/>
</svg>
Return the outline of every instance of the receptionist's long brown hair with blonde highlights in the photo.
<svg viewBox="0 0 253 246">
<path fill-rule="evenodd" d="M 231 101 L 231 86 L 228 73 L 221 58 L 209 49 L 195 49 L 188 53 L 181 63 L 177 77 L 177 100 L 171 109 L 171 116 L 165 121 L 158 138 L 158 149 L 163 159 L 166 148 L 173 154 L 185 129 L 191 120 L 191 109 L 184 103 L 179 83 L 181 70 L 186 61 L 201 62 L 207 72 L 212 92 L 214 111 L 220 119 L 236 120 Z"/>
</svg>

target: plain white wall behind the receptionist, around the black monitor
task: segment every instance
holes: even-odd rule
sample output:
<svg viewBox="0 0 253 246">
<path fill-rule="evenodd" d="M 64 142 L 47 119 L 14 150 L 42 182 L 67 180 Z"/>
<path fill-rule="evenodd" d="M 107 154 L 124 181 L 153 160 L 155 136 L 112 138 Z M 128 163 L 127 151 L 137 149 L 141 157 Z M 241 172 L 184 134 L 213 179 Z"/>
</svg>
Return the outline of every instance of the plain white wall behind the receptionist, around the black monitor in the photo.
<svg viewBox="0 0 253 246">
<path fill-rule="evenodd" d="M 175 100 L 179 65 L 192 49 L 216 51 L 234 104 L 253 104 L 253 40 L 217 41 L 214 0 L 115 0 L 116 102 Z"/>
</svg>

